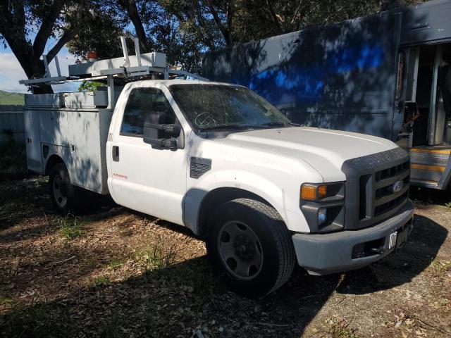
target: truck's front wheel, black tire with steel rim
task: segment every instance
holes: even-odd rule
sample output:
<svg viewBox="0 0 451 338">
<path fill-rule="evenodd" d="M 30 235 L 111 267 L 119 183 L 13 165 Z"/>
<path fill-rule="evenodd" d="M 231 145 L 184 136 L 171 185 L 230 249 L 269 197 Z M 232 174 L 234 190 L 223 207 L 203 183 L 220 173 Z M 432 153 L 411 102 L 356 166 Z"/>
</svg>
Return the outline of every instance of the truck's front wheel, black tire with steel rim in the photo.
<svg viewBox="0 0 451 338">
<path fill-rule="evenodd" d="M 285 223 L 271 206 L 235 199 L 219 206 L 207 226 L 211 264 L 235 292 L 264 296 L 290 278 L 295 249 Z"/>
</svg>

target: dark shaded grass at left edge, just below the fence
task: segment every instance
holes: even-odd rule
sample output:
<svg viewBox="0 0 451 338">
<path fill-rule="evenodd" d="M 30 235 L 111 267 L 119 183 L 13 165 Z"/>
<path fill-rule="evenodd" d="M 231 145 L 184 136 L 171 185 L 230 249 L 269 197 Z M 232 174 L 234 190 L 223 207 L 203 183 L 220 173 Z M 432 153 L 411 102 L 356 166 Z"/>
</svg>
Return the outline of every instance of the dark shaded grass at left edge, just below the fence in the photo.
<svg viewBox="0 0 451 338">
<path fill-rule="evenodd" d="M 0 180 L 14 180 L 27 175 L 25 145 L 9 140 L 0 144 Z"/>
</svg>

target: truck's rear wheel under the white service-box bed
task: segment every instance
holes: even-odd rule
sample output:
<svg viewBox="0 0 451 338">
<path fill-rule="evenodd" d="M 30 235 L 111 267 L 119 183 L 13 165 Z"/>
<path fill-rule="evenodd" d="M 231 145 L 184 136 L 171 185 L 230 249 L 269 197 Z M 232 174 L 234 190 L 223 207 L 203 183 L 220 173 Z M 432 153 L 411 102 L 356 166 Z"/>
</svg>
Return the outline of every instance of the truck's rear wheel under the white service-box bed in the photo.
<svg viewBox="0 0 451 338">
<path fill-rule="evenodd" d="M 49 194 L 51 203 L 61 215 L 75 211 L 76 187 L 70 184 L 69 173 L 64 163 L 57 163 L 49 172 Z"/>
</svg>

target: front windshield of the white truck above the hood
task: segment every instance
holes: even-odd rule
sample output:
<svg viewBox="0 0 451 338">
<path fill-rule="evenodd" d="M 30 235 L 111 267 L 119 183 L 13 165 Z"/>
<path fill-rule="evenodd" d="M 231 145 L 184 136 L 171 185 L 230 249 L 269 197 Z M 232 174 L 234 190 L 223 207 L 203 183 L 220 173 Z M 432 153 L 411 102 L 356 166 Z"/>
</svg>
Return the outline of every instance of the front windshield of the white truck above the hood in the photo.
<svg viewBox="0 0 451 338">
<path fill-rule="evenodd" d="M 244 87 L 173 84 L 169 91 L 192 126 L 201 132 L 290 125 L 276 107 Z"/>
</svg>

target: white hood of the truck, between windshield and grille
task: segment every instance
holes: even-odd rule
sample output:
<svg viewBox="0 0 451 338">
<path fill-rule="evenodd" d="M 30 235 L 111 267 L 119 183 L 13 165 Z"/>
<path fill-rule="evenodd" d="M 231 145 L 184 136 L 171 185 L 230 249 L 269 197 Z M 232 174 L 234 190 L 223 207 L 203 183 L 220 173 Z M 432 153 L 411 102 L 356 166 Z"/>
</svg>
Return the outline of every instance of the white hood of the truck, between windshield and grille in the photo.
<svg viewBox="0 0 451 338">
<path fill-rule="evenodd" d="M 388 139 L 354 132 L 342 132 L 313 127 L 287 127 L 252 130 L 229 134 L 219 143 L 237 146 L 277 156 L 296 158 L 309 163 L 323 177 L 332 182 L 344 180 L 343 162 L 370 154 L 394 149 Z"/>
</svg>

